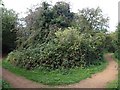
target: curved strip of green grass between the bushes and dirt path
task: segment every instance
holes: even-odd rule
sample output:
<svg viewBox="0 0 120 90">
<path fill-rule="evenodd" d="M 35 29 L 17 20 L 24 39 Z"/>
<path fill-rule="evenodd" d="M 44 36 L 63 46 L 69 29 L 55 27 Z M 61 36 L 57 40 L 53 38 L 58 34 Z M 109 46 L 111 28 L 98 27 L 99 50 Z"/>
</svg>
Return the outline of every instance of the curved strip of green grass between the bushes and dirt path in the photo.
<svg viewBox="0 0 120 90">
<path fill-rule="evenodd" d="M 65 85 L 77 83 L 85 78 L 91 77 L 92 74 L 97 73 L 105 69 L 107 62 L 105 61 L 102 65 L 91 66 L 86 69 L 75 68 L 69 71 L 54 70 L 51 72 L 40 71 L 40 70 L 25 70 L 19 67 L 11 65 L 6 60 L 3 60 L 3 67 L 9 71 L 15 73 L 16 75 L 24 76 L 29 80 L 33 80 L 39 83 L 47 85 Z"/>
</svg>

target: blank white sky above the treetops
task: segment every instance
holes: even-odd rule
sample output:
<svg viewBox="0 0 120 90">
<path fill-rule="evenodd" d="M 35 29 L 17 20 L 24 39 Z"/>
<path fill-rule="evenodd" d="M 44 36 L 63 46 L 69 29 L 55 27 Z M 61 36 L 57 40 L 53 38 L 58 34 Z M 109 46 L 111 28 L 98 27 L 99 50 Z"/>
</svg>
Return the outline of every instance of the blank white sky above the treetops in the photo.
<svg viewBox="0 0 120 90">
<path fill-rule="evenodd" d="M 57 1 L 61 0 L 3 0 L 5 7 L 8 9 L 13 9 L 17 13 L 21 13 L 20 17 L 24 17 L 27 8 L 32 7 L 42 1 L 48 1 L 55 4 Z M 73 12 L 77 12 L 78 9 L 82 8 L 97 8 L 98 6 L 102 9 L 103 14 L 108 16 L 109 31 L 115 31 L 116 25 L 118 23 L 118 1 L 119 0 L 63 0 L 69 2 Z"/>
</svg>

